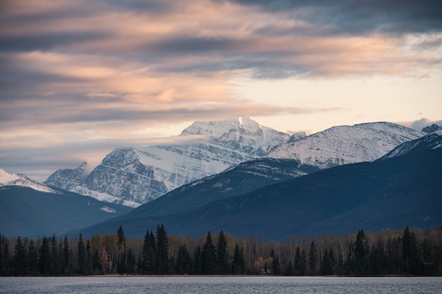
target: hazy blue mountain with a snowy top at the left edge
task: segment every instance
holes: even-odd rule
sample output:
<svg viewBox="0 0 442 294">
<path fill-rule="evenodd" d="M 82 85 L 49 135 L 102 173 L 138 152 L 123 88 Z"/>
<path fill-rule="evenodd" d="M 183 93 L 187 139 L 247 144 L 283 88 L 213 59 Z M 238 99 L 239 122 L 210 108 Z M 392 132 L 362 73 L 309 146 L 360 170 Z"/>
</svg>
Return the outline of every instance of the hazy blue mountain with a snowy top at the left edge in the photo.
<svg viewBox="0 0 442 294">
<path fill-rule="evenodd" d="M 99 223 L 131 211 L 88 196 L 53 189 L 0 169 L 0 233 L 39 237 Z"/>
</svg>

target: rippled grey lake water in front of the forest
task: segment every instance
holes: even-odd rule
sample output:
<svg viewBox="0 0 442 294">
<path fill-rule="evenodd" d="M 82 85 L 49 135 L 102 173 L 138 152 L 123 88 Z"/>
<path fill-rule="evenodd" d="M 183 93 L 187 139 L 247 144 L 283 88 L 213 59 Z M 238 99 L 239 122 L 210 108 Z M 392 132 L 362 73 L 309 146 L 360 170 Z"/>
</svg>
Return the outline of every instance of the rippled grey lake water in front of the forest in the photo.
<svg viewBox="0 0 442 294">
<path fill-rule="evenodd" d="M 442 293 L 442 278 L 274 276 L 0 277 L 0 293 Z"/>
</svg>

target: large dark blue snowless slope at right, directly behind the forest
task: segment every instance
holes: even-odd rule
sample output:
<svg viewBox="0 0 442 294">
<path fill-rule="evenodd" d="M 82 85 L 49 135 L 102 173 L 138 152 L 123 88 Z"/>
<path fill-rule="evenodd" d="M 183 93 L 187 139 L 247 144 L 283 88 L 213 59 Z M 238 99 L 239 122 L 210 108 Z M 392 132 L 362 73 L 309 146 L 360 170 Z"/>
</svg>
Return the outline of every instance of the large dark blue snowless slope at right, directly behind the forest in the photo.
<svg viewBox="0 0 442 294">
<path fill-rule="evenodd" d="M 225 230 L 265 240 L 361 228 L 427 229 L 442 223 L 441 178 L 442 148 L 436 148 L 313 172 L 186 213 L 143 217 L 134 210 L 71 234 L 110 233 L 122 225 L 126 235 L 143 237 L 157 223 L 170 234 L 199 237 Z"/>
</svg>

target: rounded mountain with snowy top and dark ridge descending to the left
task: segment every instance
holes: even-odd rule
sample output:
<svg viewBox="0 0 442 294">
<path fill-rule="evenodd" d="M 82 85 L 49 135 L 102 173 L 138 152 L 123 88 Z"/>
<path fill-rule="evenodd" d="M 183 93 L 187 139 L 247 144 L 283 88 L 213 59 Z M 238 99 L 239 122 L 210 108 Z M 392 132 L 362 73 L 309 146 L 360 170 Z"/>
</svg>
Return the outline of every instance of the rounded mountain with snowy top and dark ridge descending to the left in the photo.
<svg viewBox="0 0 442 294">
<path fill-rule="evenodd" d="M 382 147 L 377 148 L 376 143 L 371 142 L 377 142 L 381 139 L 386 142 L 404 141 L 408 139 L 407 136 L 412 137 L 413 134 L 417 132 L 395 124 L 375 123 L 365 124 L 364 127 L 361 127 L 361 125 L 354 127 L 334 127 L 321 133 L 325 134 L 318 133 L 313 137 L 313 140 L 304 138 L 305 136 L 299 136 L 297 139 L 290 141 L 289 144 L 278 146 L 275 150 L 285 149 L 287 146 L 289 148 L 296 146 L 297 149 L 295 151 L 297 152 L 303 150 L 309 151 L 309 148 L 311 148 L 313 144 L 316 150 L 324 151 L 321 155 L 323 158 L 327 158 L 330 163 L 338 158 L 337 153 L 342 155 L 353 154 L 353 161 L 362 162 L 374 158 L 374 156 L 368 157 L 366 155 L 366 149 L 374 149 L 371 150 L 372 153 L 370 154 L 374 153 L 376 157 L 386 149 L 385 144 L 381 144 Z M 404 134 L 407 136 L 404 136 Z M 417 135 L 422 134 L 417 133 Z M 294 138 L 294 136 L 292 136 L 292 138 Z M 291 144 L 293 142 L 296 143 Z M 328 146 L 330 142 L 338 142 L 339 146 L 335 146 L 333 143 L 331 146 Z M 389 143 L 387 146 L 390 148 L 393 146 L 393 143 Z M 339 148 L 335 150 L 332 147 Z M 350 150 L 350 148 L 355 149 Z M 275 150 L 271 151 L 270 155 L 274 154 Z M 359 155 L 359 157 L 354 154 Z M 325 161 L 326 160 L 323 160 L 323 162 Z M 344 160 L 341 159 L 337 161 L 341 162 Z M 309 161 L 309 163 L 313 163 L 313 160 Z M 326 167 L 329 166 L 323 164 L 316 166 L 302 165 L 299 160 L 268 158 L 265 156 L 258 160 L 241 163 L 237 167 L 225 170 L 218 175 L 206 177 L 202 180 L 197 180 L 191 184 L 179 187 L 155 199 L 155 201 L 151 201 L 139 207 L 136 211 L 133 211 L 133 214 L 138 213 L 140 216 L 160 216 L 168 213 L 184 213 L 191 208 L 201 207 L 218 199 L 238 196 L 269 184 L 275 184 L 276 182 L 306 175 Z"/>
</svg>

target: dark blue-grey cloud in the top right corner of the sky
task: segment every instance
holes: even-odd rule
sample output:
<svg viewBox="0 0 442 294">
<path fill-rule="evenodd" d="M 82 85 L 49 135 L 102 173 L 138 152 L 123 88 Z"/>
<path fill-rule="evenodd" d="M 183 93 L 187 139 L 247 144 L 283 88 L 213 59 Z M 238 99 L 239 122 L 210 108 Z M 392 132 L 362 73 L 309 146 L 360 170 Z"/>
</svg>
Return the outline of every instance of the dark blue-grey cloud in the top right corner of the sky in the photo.
<svg viewBox="0 0 442 294">
<path fill-rule="evenodd" d="M 423 0 L 293 1 L 234 0 L 273 11 L 291 11 L 296 18 L 323 26 L 322 33 L 431 33 L 442 30 L 442 2 Z M 316 30 L 316 33 L 320 31 Z"/>
</svg>

